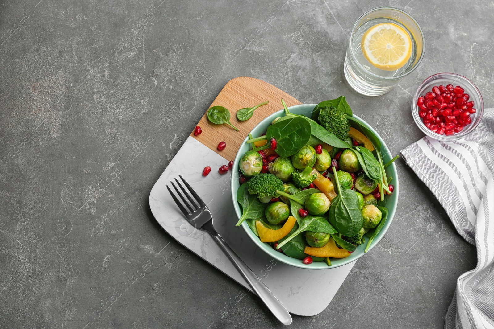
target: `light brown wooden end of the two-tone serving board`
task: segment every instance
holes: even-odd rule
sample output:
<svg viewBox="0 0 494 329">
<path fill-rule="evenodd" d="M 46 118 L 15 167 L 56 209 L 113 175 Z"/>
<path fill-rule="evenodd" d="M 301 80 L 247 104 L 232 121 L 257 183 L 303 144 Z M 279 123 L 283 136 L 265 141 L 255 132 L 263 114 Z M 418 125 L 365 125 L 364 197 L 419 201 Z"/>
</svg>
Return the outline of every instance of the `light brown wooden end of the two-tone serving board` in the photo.
<svg viewBox="0 0 494 329">
<path fill-rule="evenodd" d="M 266 116 L 283 109 L 283 105 L 281 104 L 282 98 L 285 100 L 287 106 L 302 104 L 283 90 L 265 81 L 247 76 L 232 79 L 223 87 L 209 108 L 220 105 L 230 110 L 230 122 L 239 128 L 240 131 L 236 131 L 227 124 L 217 125 L 209 122 L 206 111 L 198 123 L 203 130 L 202 134 L 195 136 L 194 132 L 192 132 L 190 136 L 226 160 L 233 160 L 242 141 L 244 141 L 252 128 Z M 257 108 L 250 119 L 246 121 L 239 121 L 237 119 L 238 110 L 250 108 L 265 101 L 269 101 L 269 103 Z M 226 142 L 226 147 L 220 151 L 217 149 L 217 146 L 221 141 Z"/>
</svg>

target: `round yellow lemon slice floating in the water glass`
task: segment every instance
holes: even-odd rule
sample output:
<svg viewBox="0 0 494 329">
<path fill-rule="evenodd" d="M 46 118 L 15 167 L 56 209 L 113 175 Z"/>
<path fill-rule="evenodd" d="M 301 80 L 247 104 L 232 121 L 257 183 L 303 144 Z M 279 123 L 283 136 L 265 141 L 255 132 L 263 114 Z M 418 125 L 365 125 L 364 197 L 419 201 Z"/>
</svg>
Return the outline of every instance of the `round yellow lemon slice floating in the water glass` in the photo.
<svg viewBox="0 0 494 329">
<path fill-rule="evenodd" d="M 360 42 L 364 57 L 376 68 L 398 70 L 412 55 L 412 40 L 407 31 L 394 23 L 374 25 Z"/>
</svg>

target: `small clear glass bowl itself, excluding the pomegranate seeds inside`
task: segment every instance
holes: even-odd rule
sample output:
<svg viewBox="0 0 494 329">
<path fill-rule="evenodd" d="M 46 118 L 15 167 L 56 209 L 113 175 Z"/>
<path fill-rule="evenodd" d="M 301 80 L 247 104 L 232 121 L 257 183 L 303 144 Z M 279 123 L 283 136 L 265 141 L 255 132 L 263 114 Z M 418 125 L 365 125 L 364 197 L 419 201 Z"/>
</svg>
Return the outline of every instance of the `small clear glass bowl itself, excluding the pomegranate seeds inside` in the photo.
<svg viewBox="0 0 494 329">
<path fill-rule="evenodd" d="M 439 86 L 440 84 L 442 84 L 443 86 L 452 84 L 455 87 L 460 86 L 461 88 L 465 89 L 464 93 L 470 95 L 470 99 L 468 101 L 474 101 L 475 105 L 473 106 L 473 108 L 477 110 L 475 113 L 470 114 L 472 123 L 465 126 L 463 130 L 460 131 L 459 133 L 450 136 L 439 135 L 433 132 L 424 125 L 422 119 L 420 118 L 420 116 L 418 116 L 418 111 L 420 110 L 417 106 L 418 98 L 420 96 L 425 96 L 426 92 L 432 91 L 432 87 Z M 465 137 L 466 135 L 470 134 L 473 130 L 475 130 L 475 128 L 477 128 L 480 120 L 482 119 L 483 114 L 484 114 L 484 101 L 482 100 L 482 95 L 480 94 L 479 89 L 477 89 L 477 87 L 473 84 L 472 81 L 459 74 L 437 73 L 431 75 L 427 79 L 425 79 L 424 82 L 422 82 L 422 84 L 420 84 L 420 86 L 417 89 L 417 92 L 415 93 L 415 96 L 413 96 L 412 115 L 415 124 L 418 126 L 418 128 L 420 128 L 420 130 L 422 130 L 424 134 L 436 140 L 456 141 L 459 140 L 460 138 Z"/>
</svg>

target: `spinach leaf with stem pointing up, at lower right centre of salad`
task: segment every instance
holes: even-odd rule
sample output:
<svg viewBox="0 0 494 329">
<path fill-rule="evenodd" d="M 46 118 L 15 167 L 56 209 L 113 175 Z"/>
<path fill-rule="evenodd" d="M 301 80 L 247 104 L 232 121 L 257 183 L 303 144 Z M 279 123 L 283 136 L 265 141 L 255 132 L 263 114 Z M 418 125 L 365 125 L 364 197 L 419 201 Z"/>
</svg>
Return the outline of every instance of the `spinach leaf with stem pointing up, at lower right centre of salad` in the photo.
<svg viewBox="0 0 494 329">
<path fill-rule="evenodd" d="M 329 206 L 329 222 L 344 236 L 354 236 L 362 228 L 359 198 L 354 190 L 342 188 L 336 169 L 333 174 L 338 188 L 338 195 Z"/>
</svg>

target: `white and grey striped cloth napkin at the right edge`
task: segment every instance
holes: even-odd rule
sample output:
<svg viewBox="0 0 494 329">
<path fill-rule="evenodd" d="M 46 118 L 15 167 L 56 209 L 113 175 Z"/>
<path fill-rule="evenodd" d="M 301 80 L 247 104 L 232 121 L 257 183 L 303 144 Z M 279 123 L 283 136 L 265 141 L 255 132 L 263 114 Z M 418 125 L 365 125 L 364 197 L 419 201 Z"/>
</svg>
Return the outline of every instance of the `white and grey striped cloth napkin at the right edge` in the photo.
<svg viewBox="0 0 494 329">
<path fill-rule="evenodd" d="M 401 153 L 477 247 L 477 266 L 457 279 L 444 328 L 494 329 L 494 109 L 464 139 L 424 137 Z"/>
</svg>

